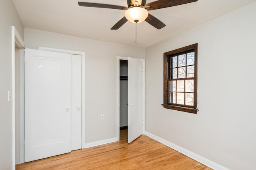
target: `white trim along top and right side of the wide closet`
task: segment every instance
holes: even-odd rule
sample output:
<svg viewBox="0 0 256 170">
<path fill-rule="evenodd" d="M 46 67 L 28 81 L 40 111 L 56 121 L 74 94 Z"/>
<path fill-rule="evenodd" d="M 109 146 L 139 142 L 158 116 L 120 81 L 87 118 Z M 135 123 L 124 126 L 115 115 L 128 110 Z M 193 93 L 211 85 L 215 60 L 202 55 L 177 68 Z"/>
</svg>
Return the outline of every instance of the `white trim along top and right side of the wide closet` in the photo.
<svg viewBox="0 0 256 170">
<path fill-rule="evenodd" d="M 52 51 L 59 53 L 75 54 L 82 56 L 82 149 L 85 148 L 85 52 L 83 51 L 73 51 L 65 49 L 54 49 L 48 47 L 38 47 L 39 50 Z"/>
</svg>

